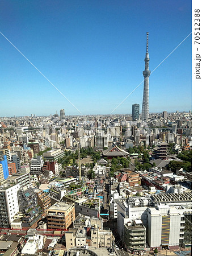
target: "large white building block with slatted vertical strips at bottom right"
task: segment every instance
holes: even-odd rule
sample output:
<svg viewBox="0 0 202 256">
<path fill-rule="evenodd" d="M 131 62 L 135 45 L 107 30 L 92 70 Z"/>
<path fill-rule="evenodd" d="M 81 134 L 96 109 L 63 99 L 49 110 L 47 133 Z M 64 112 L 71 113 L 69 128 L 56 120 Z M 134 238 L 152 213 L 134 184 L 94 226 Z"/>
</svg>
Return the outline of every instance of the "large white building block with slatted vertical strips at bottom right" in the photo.
<svg viewBox="0 0 202 256">
<path fill-rule="evenodd" d="M 186 195 L 186 198 L 182 196 Z M 176 195 L 176 194 L 175 194 Z M 117 202 L 117 232 L 125 242 L 124 226 L 128 222 L 141 220 L 146 227 L 147 243 L 151 249 L 162 247 L 177 249 L 184 241 L 184 215 L 191 214 L 190 195 L 188 193 L 173 196 L 172 200 L 157 197 L 155 207 L 149 207 L 150 197 L 129 197 Z M 179 198 L 178 198 L 179 197 Z M 185 197 L 185 196 L 184 196 Z M 181 201 L 180 201 L 181 200 Z M 166 202 L 166 203 L 165 203 Z M 189 230 L 186 230 L 186 233 Z M 187 243 L 187 242 L 186 242 Z"/>
</svg>

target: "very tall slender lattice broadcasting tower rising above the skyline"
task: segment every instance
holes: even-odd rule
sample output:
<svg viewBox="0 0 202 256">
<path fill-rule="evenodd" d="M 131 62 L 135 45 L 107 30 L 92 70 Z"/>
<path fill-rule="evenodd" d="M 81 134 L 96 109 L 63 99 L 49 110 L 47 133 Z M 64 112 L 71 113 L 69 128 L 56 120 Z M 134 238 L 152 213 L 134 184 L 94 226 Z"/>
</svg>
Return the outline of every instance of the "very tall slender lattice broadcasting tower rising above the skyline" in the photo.
<svg viewBox="0 0 202 256">
<path fill-rule="evenodd" d="M 142 72 L 145 78 L 144 80 L 144 92 L 142 100 L 142 121 L 148 121 L 149 119 L 149 52 L 148 52 L 148 40 L 149 32 L 146 32 L 146 56 L 145 56 L 145 70 Z"/>
</svg>

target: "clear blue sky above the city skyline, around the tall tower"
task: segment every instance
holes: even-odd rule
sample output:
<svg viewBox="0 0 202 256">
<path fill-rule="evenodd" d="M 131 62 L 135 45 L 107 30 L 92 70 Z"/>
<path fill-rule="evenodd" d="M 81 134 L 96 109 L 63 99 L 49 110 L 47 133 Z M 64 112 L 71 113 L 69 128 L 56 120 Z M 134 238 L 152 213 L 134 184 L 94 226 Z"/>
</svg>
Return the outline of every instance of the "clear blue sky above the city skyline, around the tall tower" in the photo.
<svg viewBox="0 0 202 256">
<path fill-rule="evenodd" d="M 146 32 L 153 72 L 191 33 L 191 0 L 2 0 L 0 24 L 52 83 L 0 34 L 0 116 L 131 113 Z M 190 35 L 150 75 L 150 112 L 191 110 L 191 65 Z"/>
</svg>

